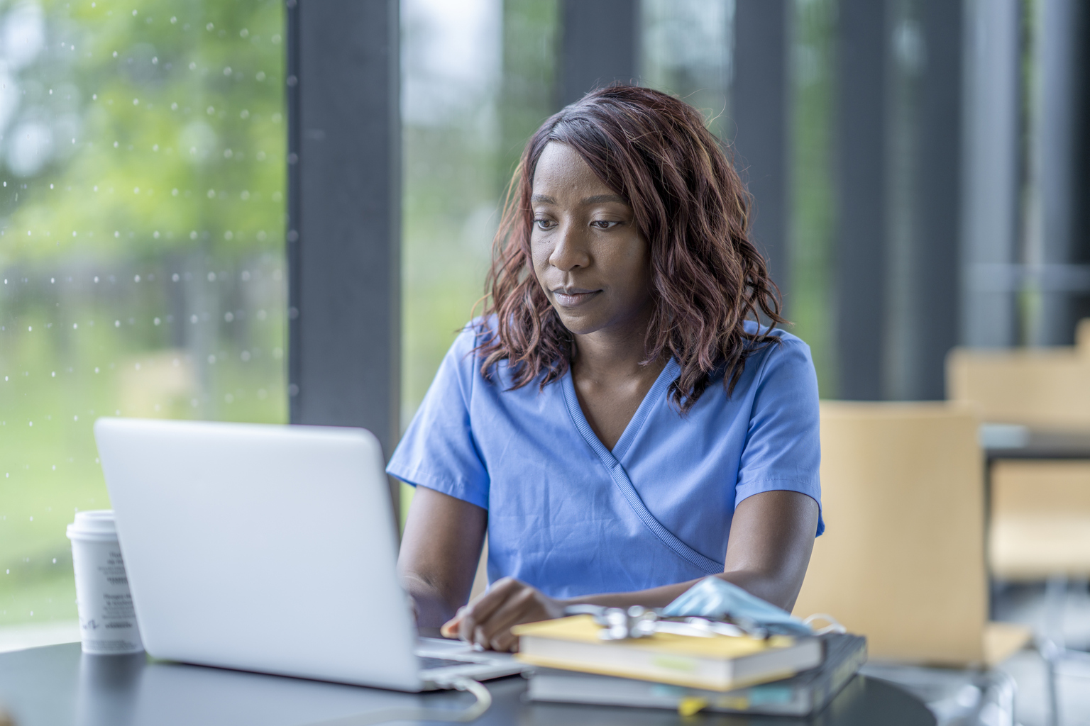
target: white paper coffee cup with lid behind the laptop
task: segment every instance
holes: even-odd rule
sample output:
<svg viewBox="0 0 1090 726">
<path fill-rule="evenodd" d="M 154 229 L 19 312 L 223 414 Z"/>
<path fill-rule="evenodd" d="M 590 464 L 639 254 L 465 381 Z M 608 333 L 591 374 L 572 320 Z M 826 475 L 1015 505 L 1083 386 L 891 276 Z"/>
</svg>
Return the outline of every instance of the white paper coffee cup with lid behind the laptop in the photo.
<svg viewBox="0 0 1090 726">
<path fill-rule="evenodd" d="M 113 512 L 78 512 L 68 526 L 75 570 L 75 600 L 84 653 L 137 653 L 144 650 L 118 546 Z"/>
</svg>

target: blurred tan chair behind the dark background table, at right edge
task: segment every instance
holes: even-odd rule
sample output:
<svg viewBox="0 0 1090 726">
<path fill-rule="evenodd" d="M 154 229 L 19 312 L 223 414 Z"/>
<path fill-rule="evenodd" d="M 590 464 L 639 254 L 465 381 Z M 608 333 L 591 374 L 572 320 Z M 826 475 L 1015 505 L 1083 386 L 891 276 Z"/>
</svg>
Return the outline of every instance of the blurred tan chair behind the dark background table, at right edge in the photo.
<svg viewBox="0 0 1090 726">
<path fill-rule="evenodd" d="M 946 360 L 950 399 L 983 420 L 1042 430 L 1090 429 L 1090 319 L 1075 346 L 1017 350 L 956 348 Z M 1090 665 L 1064 644 L 1063 603 L 1070 577 L 1090 577 L 1090 460 L 1000 459 L 991 471 L 988 558 L 1002 580 L 1046 580 L 1038 649 L 1050 665 L 1052 723 L 1062 661 Z"/>
</svg>

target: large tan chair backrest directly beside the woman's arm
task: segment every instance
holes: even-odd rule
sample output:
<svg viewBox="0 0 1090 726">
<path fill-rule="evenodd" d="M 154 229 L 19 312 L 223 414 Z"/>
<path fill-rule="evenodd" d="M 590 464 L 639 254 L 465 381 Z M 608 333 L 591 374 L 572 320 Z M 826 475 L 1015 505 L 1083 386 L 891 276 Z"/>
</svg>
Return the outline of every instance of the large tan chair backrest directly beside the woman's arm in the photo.
<svg viewBox="0 0 1090 726">
<path fill-rule="evenodd" d="M 796 615 L 833 615 L 880 660 L 985 661 L 977 429 L 973 411 L 944 403 L 822 404 L 828 529 L 814 542 Z"/>
</svg>

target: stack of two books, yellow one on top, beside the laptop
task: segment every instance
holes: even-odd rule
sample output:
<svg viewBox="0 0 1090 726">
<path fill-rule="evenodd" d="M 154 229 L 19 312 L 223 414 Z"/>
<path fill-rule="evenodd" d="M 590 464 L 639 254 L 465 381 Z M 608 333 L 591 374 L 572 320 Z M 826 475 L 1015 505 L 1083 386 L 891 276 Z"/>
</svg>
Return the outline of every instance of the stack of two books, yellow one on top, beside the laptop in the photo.
<svg viewBox="0 0 1090 726">
<path fill-rule="evenodd" d="M 803 716 L 821 710 L 867 660 L 851 635 L 768 639 L 656 632 L 602 640 L 589 615 L 518 626 L 535 667 L 534 701 Z"/>
</svg>

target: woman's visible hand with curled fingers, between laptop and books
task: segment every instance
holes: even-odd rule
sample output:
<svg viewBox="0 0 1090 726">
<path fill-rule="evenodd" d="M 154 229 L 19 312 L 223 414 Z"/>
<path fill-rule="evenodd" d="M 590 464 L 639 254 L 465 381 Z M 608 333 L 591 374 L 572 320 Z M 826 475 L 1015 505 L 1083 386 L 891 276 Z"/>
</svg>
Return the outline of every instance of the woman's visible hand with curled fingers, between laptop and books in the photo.
<svg viewBox="0 0 1090 726">
<path fill-rule="evenodd" d="M 441 632 L 447 638 L 457 636 L 482 648 L 513 653 L 519 648 L 519 639 L 511 635 L 511 626 L 561 615 L 562 602 L 525 582 L 505 577 L 496 580 L 476 600 L 460 607 L 458 614 L 443 626 Z"/>
</svg>

